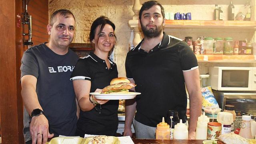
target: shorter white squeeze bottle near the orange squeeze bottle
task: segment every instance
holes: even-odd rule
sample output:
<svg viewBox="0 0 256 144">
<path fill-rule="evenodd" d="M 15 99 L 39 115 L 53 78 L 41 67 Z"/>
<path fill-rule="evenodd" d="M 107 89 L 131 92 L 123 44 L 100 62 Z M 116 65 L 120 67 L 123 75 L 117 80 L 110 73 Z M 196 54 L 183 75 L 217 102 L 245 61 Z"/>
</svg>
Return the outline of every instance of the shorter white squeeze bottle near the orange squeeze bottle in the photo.
<svg viewBox="0 0 256 144">
<path fill-rule="evenodd" d="M 186 124 L 182 123 L 182 120 L 180 120 L 180 123 L 174 126 L 173 139 L 174 140 L 188 139 L 188 127 L 186 126 Z"/>
</svg>

